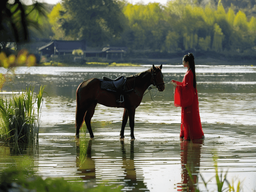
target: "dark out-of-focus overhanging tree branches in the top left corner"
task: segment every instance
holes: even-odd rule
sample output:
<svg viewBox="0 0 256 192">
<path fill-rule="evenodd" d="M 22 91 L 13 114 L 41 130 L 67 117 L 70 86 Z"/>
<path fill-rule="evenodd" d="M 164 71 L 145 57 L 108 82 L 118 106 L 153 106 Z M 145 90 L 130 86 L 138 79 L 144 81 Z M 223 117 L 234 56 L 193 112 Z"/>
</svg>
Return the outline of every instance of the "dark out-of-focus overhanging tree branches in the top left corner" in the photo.
<svg viewBox="0 0 256 192">
<path fill-rule="evenodd" d="M 46 12 L 41 3 L 35 2 L 33 5 L 25 6 L 20 0 L 15 0 L 14 3 L 2 0 L 0 11 L 0 51 L 5 48 L 6 42 L 28 42 L 29 27 L 40 29 L 38 17 L 45 16 Z"/>
</svg>

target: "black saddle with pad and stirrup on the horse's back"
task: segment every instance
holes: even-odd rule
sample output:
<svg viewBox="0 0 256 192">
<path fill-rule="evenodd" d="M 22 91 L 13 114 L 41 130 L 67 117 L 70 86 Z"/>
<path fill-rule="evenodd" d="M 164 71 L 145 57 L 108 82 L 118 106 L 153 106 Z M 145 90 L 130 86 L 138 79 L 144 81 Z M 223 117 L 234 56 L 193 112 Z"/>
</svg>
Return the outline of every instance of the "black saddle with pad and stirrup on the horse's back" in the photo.
<svg viewBox="0 0 256 192">
<path fill-rule="evenodd" d="M 126 77 L 120 76 L 116 79 L 110 79 L 108 77 L 103 76 L 101 80 L 101 89 L 105 89 L 108 91 L 116 92 L 120 94 L 120 100 L 117 102 L 124 102 L 124 92 L 126 91 L 125 84 L 126 84 Z"/>
</svg>

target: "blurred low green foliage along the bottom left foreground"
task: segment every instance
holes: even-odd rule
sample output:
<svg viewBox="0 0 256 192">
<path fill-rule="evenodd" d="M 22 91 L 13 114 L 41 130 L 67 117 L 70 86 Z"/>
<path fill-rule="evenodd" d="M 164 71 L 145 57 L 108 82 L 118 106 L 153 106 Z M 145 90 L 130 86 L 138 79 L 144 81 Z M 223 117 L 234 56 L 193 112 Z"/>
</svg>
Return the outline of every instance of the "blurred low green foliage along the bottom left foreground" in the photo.
<svg viewBox="0 0 256 192">
<path fill-rule="evenodd" d="M 93 188 L 86 188 L 84 182 L 68 182 L 64 178 L 46 178 L 31 176 L 31 172 L 24 168 L 8 168 L 0 175 L 0 189 L 5 191 L 37 191 L 37 192 L 120 192 L 122 186 L 99 184 Z"/>
</svg>

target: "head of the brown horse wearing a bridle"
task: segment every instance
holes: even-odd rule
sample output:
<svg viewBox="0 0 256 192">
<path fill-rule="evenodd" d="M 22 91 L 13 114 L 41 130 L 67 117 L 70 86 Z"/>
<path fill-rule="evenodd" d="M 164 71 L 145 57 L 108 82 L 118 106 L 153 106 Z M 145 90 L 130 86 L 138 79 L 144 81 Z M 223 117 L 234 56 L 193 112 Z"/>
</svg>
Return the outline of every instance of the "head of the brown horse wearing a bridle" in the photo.
<svg viewBox="0 0 256 192">
<path fill-rule="evenodd" d="M 153 85 L 157 87 L 158 91 L 165 90 L 165 82 L 163 82 L 162 67 L 163 65 L 155 67 L 155 65 L 153 64 L 153 67 L 151 69 Z"/>
</svg>

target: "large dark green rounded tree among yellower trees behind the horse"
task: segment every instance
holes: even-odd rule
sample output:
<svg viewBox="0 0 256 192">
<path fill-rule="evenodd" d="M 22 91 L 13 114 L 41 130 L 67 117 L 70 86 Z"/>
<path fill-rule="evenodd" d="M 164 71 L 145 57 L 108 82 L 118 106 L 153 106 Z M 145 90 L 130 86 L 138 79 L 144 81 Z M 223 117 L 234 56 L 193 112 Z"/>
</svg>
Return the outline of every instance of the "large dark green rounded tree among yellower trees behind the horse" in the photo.
<svg viewBox="0 0 256 192">
<path fill-rule="evenodd" d="M 114 0 L 63 0 L 60 23 L 65 35 L 103 45 L 123 31 L 122 12 Z"/>
</svg>

